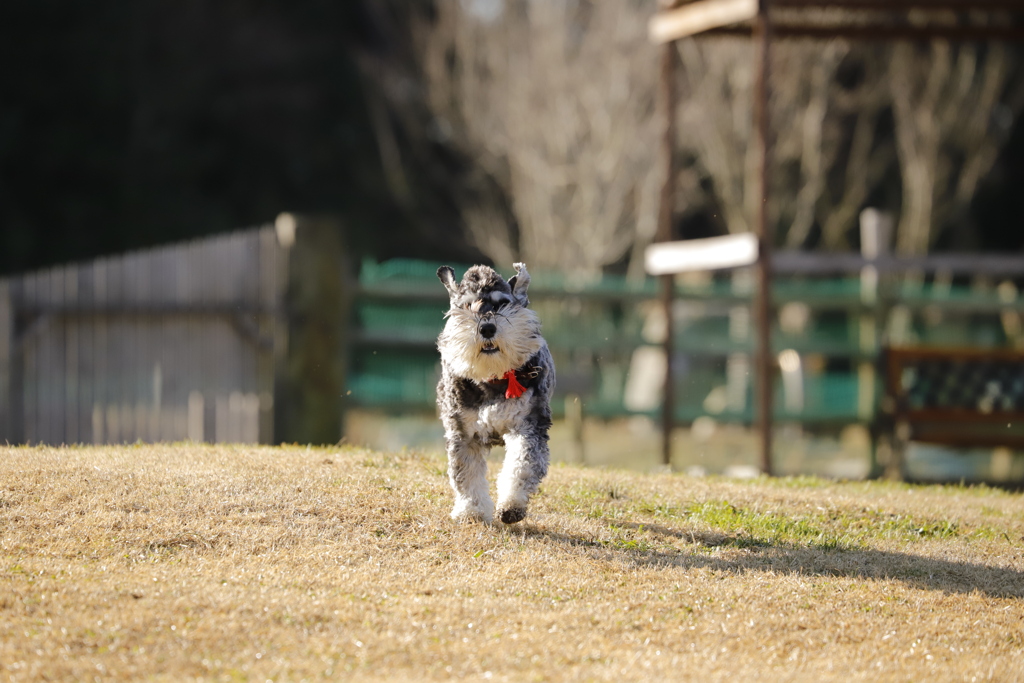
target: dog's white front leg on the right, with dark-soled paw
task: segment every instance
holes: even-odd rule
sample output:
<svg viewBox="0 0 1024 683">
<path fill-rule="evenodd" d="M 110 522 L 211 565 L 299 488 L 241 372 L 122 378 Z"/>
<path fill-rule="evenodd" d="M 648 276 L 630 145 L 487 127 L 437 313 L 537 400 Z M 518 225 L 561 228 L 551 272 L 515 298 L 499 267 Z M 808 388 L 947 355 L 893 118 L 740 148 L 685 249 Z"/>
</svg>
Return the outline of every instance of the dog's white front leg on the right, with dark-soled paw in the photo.
<svg viewBox="0 0 1024 683">
<path fill-rule="evenodd" d="M 505 465 L 498 476 L 498 511 L 506 524 L 526 516 L 529 497 L 548 473 L 547 430 L 537 428 L 505 435 Z"/>
</svg>

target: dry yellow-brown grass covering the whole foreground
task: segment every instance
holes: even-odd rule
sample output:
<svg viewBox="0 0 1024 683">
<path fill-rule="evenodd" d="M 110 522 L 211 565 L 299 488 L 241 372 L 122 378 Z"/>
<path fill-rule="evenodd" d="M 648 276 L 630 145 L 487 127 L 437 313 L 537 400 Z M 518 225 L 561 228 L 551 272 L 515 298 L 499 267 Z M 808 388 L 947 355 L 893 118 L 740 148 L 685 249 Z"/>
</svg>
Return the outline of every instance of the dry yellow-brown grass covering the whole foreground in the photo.
<svg viewBox="0 0 1024 683">
<path fill-rule="evenodd" d="M 454 525 L 443 461 L 0 449 L 9 680 L 1021 680 L 1024 502 L 556 467 Z"/>
</svg>

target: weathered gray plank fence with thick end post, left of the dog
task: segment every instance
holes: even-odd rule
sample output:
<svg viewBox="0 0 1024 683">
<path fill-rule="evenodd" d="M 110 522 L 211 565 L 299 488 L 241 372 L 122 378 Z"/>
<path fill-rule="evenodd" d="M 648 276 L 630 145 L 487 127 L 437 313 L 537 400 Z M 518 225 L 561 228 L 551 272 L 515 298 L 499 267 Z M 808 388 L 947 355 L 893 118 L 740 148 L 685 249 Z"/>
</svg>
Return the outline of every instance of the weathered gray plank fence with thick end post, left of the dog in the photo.
<svg viewBox="0 0 1024 683">
<path fill-rule="evenodd" d="M 340 407 L 336 425 L 302 425 L 317 411 L 295 374 L 312 365 L 322 384 L 339 378 L 334 362 L 295 357 L 308 334 L 291 325 L 316 318 L 325 297 L 303 282 L 340 269 L 340 243 L 323 222 L 290 227 L 0 281 L 0 442 L 340 438 Z M 340 343 L 336 327 L 328 323 L 322 354 Z M 295 405 L 275 408 L 283 398 L 297 402 L 300 419 Z"/>
</svg>

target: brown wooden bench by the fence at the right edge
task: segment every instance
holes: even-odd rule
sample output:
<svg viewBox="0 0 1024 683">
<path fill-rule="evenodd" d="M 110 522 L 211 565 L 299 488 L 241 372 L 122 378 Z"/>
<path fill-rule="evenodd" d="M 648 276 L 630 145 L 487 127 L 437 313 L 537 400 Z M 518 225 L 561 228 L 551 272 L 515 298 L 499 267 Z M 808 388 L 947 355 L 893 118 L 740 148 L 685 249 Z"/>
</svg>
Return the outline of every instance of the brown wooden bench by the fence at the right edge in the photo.
<svg viewBox="0 0 1024 683">
<path fill-rule="evenodd" d="M 909 441 L 1024 447 L 1024 352 L 894 347 L 884 356 L 880 436 L 887 473 L 902 478 Z"/>
</svg>

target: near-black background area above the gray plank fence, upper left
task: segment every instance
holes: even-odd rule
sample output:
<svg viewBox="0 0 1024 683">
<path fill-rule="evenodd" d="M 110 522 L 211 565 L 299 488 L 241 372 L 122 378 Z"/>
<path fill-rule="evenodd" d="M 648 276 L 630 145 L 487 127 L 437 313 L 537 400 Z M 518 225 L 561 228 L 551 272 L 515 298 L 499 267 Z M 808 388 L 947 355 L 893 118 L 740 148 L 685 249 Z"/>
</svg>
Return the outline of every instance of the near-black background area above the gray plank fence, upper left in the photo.
<svg viewBox="0 0 1024 683">
<path fill-rule="evenodd" d="M 358 68 L 400 60 L 380 25 L 351 1 L 5 3 L 0 272 L 282 211 L 341 215 L 362 252 L 451 254 L 429 169 L 403 201 L 382 170 Z"/>
</svg>

